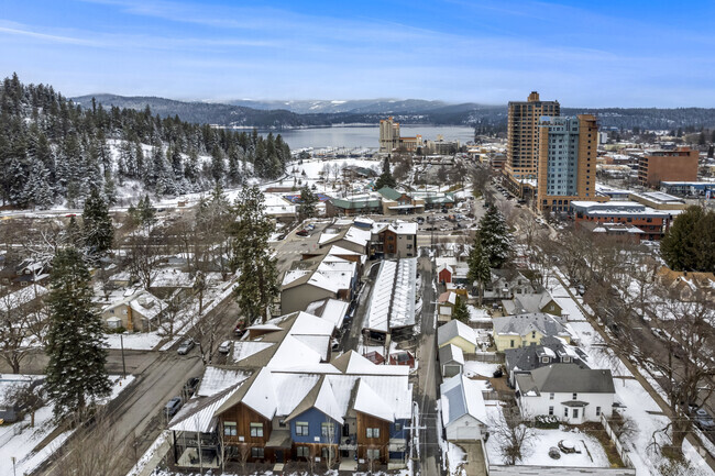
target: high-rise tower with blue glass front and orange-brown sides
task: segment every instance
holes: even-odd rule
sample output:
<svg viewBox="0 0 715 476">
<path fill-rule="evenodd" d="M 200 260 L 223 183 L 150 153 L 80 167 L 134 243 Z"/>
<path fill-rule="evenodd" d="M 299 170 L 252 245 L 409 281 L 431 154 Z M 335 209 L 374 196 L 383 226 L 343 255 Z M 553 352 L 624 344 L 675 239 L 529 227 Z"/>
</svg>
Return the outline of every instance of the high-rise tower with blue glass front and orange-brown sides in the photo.
<svg viewBox="0 0 715 476">
<path fill-rule="evenodd" d="M 537 208 L 542 213 L 568 212 L 572 200 L 594 200 L 598 148 L 596 118 L 592 114 L 543 117 L 538 134 Z"/>
</svg>

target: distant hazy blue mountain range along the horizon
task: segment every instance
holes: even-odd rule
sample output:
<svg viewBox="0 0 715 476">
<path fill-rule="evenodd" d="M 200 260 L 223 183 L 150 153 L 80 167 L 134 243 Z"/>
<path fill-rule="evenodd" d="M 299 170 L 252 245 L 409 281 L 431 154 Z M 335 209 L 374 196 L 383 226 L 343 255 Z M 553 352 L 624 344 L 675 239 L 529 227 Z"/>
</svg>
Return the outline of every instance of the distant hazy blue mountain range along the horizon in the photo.
<svg viewBox="0 0 715 476">
<path fill-rule="evenodd" d="M 91 107 L 91 99 L 105 108 L 144 109 L 148 106 L 161 117 L 178 115 L 195 123 L 223 126 L 293 129 L 328 126 L 333 124 L 377 124 L 380 119 L 394 115 L 403 123 L 431 123 L 439 125 L 495 125 L 504 126 L 506 106 L 486 106 L 474 102 L 459 104 L 421 99 L 391 100 L 300 100 L 254 101 L 231 100 L 223 103 L 206 101 L 176 101 L 156 97 L 127 97 L 117 95 L 87 95 L 72 98 L 82 107 Z M 715 109 L 623 109 L 623 108 L 562 108 L 563 115 L 594 113 L 604 129 L 672 130 L 715 126 Z"/>
</svg>

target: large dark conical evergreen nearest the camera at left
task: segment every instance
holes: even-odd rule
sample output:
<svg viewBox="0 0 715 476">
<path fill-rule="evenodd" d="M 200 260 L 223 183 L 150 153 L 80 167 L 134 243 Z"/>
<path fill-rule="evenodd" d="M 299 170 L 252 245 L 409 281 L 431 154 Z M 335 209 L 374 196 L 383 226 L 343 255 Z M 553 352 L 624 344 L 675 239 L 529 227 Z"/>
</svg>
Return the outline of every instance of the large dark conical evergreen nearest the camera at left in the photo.
<svg viewBox="0 0 715 476">
<path fill-rule="evenodd" d="M 102 321 L 92 303 L 89 270 L 79 252 L 59 250 L 52 268 L 45 388 L 54 399 L 56 420 L 72 416 L 81 422 L 91 400 L 111 390 Z"/>
</svg>

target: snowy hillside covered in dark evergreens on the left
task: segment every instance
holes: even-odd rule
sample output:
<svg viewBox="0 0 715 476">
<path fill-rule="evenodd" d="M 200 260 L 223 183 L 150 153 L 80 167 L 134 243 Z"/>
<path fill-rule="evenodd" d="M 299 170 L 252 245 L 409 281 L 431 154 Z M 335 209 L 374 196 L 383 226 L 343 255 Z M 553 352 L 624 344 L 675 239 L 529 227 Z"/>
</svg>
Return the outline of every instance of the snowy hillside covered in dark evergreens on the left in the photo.
<svg viewBox="0 0 715 476">
<path fill-rule="evenodd" d="M 148 107 L 82 108 L 16 75 L 0 85 L 3 206 L 78 207 L 92 187 L 112 203 L 124 181 L 155 196 L 199 191 L 217 181 L 278 177 L 289 158 L 279 134 L 213 129 L 155 115 Z"/>
</svg>

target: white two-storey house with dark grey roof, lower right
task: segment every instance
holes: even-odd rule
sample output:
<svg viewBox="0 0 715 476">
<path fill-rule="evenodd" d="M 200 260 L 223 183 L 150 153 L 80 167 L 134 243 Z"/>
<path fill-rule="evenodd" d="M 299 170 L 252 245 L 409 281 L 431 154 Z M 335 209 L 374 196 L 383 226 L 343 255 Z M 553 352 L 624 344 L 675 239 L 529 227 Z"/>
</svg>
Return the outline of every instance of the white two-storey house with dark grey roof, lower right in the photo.
<svg viewBox="0 0 715 476">
<path fill-rule="evenodd" d="M 525 417 L 553 416 L 579 424 L 610 417 L 614 395 L 608 369 L 553 364 L 516 374 L 519 408 Z"/>
</svg>

